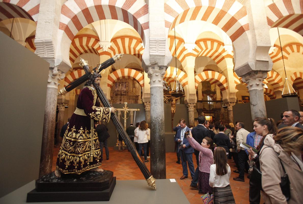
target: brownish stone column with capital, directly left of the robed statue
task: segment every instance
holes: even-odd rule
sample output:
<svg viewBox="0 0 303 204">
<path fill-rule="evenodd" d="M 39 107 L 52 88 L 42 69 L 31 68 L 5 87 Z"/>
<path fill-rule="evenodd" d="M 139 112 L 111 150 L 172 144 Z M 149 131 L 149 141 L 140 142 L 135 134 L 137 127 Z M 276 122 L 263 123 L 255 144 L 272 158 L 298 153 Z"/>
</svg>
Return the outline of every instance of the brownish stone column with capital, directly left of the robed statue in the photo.
<svg viewBox="0 0 303 204">
<path fill-rule="evenodd" d="M 57 67 L 50 68 L 46 90 L 39 178 L 52 172 L 58 82 L 64 77 L 65 75 L 58 71 Z"/>
</svg>

